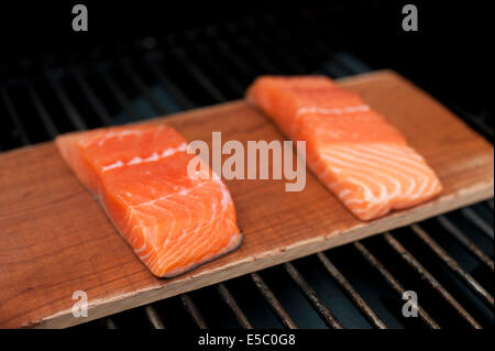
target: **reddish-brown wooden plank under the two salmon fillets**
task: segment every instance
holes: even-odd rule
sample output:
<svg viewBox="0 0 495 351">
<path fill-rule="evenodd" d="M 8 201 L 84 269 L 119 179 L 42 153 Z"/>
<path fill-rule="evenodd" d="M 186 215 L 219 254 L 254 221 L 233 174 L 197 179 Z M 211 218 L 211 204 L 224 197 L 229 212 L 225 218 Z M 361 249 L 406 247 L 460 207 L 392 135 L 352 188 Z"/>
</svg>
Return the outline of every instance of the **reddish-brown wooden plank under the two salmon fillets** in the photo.
<svg viewBox="0 0 495 351">
<path fill-rule="evenodd" d="M 52 142 L 0 155 L 0 327 L 62 328 L 215 284 L 449 211 L 494 194 L 494 150 L 460 119 L 392 72 L 340 80 L 407 136 L 438 173 L 441 197 L 361 222 L 309 172 L 285 180 L 228 180 L 242 246 L 173 279 L 154 277 L 64 164 Z M 234 101 L 161 118 L 188 140 L 284 140 L 267 118 Z M 73 293 L 88 295 L 75 318 Z"/>
</svg>

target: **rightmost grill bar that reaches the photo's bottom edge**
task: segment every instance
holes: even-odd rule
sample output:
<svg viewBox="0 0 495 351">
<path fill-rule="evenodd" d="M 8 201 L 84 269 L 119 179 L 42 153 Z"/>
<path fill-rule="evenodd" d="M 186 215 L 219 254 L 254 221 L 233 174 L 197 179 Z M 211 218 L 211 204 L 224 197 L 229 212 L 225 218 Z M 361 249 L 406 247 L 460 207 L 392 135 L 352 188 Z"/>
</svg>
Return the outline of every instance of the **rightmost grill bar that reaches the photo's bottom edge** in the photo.
<svg viewBox="0 0 495 351">
<path fill-rule="evenodd" d="M 438 282 L 427 268 L 425 268 L 415 256 L 400 244 L 391 233 L 385 233 L 383 235 L 385 241 L 391 245 L 392 249 L 397 252 L 404 261 L 406 261 L 420 276 L 424 281 L 440 294 L 443 299 L 446 299 L 449 305 L 451 305 L 461 316 L 464 318 L 471 327 L 475 329 L 482 329 L 482 326 L 464 309 L 464 307 L 459 304 L 455 298 Z"/>
</svg>

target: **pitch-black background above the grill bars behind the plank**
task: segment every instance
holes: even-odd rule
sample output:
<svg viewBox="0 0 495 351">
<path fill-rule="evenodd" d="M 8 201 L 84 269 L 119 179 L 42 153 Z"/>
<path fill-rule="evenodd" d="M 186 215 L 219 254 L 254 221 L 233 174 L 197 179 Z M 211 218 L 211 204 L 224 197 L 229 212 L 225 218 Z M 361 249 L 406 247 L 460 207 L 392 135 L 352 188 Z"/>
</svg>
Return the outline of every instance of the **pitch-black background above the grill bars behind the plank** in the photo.
<svg viewBox="0 0 495 351">
<path fill-rule="evenodd" d="M 419 31 L 402 30 L 402 8 L 418 7 Z M 72 8 L 84 3 L 89 32 L 72 31 Z M 0 69 L 11 72 L 23 57 L 55 57 L 96 45 L 124 43 L 143 35 L 182 33 L 187 29 L 238 21 L 260 13 L 285 18 L 305 11 L 319 14 L 318 26 L 374 69 L 392 68 L 413 79 L 440 100 L 461 99 L 474 112 L 493 111 L 488 83 L 493 56 L 488 47 L 490 10 L 485 2 L 462 1 L 326 1 L 227 3 L 195 1 L 2 1 L 0 6 Z M 305 50 L 301 47 L 301 50 Z M 61 55 L 63 54 L 63 55 Z M 490 79 L 490 80 L 488 80 Z"/>
</svg>

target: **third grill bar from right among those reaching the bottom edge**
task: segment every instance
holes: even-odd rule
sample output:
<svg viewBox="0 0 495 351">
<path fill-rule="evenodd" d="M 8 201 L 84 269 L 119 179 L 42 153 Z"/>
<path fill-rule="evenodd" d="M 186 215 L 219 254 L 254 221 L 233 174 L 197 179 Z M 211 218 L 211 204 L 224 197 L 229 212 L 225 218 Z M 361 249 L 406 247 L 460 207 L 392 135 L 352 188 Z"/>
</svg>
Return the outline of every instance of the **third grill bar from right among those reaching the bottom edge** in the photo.
<svg viewBox="0 0 495 351">
<path fill-rule="evenodd" d="M 332 278 L 340 285 L 344 293 L 351 298 L 355 307 L 364 315 L 364 317 L 372 323 L 373 327 L 378 329 L 386 329 L 387 326 L 375 314 L 375 311 L 366 304 L 363 297 L 356 292 L 351 283 L 343 276 L 343 274 L 337 268 L 333 263 L 322 252 L 317 253 L 317 257 L 323 264 L 327 272 Z"/>
</svg>

